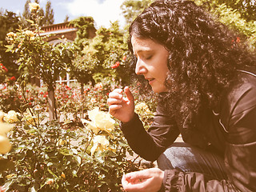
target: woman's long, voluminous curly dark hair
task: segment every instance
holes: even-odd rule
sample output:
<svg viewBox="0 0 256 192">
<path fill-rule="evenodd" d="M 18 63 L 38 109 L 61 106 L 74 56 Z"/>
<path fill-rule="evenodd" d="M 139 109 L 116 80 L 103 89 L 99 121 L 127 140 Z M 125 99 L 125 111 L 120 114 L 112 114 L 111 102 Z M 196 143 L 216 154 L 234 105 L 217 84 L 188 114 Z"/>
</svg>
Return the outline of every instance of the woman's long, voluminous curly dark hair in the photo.
<svg viewBox="0 0 256 192">
<path fill-rule="evenodd" d="M 132 22 L 129 32 L 130 38 L 150 38 L 169 51 L 169 92 L 159 98 L 170 112 L 182 112 L 183 118 L 198 113 L 202 106 L 213 109 L 238 69 L 255 65 L 254 55 L 238 43 L 238 34 L 192 1 L 153 2 Z M 135 66 L 136 58 L 131 67 Z M 150 90 L 148 82 L 137 76 L 140 89 Z"/>
</svg>

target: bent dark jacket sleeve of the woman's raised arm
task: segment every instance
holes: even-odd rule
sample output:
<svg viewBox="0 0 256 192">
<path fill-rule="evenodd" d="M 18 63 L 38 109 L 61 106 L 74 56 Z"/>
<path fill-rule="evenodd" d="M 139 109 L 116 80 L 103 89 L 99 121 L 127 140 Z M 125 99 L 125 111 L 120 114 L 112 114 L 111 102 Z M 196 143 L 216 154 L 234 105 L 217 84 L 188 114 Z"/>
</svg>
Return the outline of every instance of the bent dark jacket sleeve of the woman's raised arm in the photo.
<svg viewBox="0 0 256 192">
<path fill-rule="evenodd" d="M 121 130 L 136 154 L 154 162 L 178 137 L 179 130 L 174 118 L 166 115 L 163 107 L 157 106 L 154 122 L 145 130 L 138 114 L 130 122 L 121 123 Z"/>
</svg>

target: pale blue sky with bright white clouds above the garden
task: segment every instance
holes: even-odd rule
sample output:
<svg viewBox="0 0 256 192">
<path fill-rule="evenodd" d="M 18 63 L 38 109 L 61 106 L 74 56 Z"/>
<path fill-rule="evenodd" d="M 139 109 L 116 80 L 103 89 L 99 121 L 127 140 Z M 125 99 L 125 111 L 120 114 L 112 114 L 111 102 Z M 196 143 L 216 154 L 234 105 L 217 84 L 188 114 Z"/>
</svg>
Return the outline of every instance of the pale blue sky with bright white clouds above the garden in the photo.
<svg viewBox="0 0 256 192">
<path fill-rule="evenodd" d="M 31 0 L 34 2 L 34 0 Z M 47 0 L 39 0 L 43 10 L 46 8 Z M 63 22 L 66 15 L 70 20 L 80 16 L 91 16 L 94 18 L 96 28 L 100 26 L 110 27 L 110 22 L 119 21 L 120 26 L 125 25 L 120 6 L 124 0 L 50 0 L 54 9 L 54 23 Z M 0 0 L 3 10 L 22 14 L 26 0 Z"/>
</svg>

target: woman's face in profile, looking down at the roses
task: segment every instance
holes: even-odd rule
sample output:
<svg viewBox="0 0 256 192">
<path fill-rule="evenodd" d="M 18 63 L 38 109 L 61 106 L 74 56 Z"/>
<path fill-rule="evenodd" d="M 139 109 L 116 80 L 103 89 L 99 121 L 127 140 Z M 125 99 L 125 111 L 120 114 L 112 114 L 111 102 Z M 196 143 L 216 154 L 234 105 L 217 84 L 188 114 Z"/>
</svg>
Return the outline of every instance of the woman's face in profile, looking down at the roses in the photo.
<svg viewBox="0 0 256 192">
<path fill-rule="evenodd" d="M 149 81 L 155 93 L 166 92 L 166 75 L 168 72 L 168 51 L 161 44 L 150 38 L 131 37 L 134 55 L 137 58 L 135 73 L 142 74 Z"/>
</svg>

